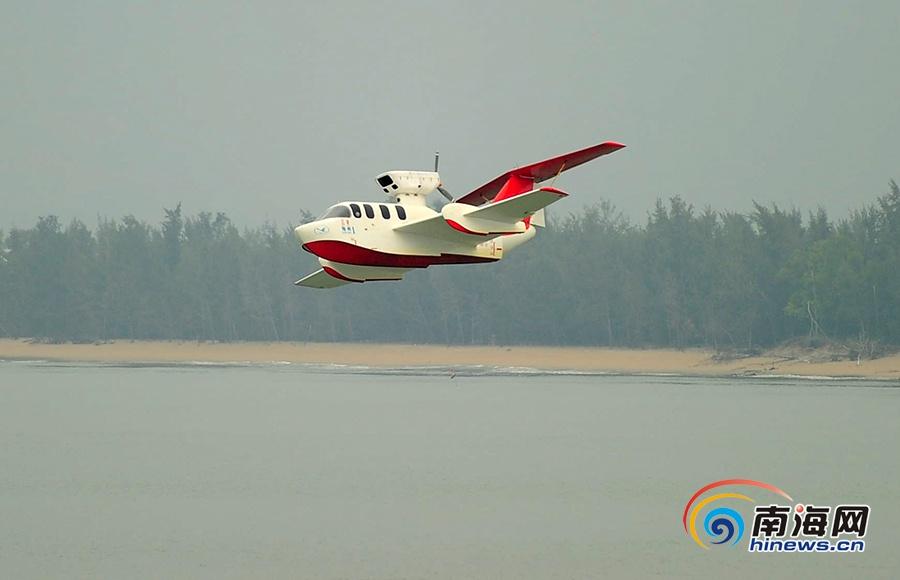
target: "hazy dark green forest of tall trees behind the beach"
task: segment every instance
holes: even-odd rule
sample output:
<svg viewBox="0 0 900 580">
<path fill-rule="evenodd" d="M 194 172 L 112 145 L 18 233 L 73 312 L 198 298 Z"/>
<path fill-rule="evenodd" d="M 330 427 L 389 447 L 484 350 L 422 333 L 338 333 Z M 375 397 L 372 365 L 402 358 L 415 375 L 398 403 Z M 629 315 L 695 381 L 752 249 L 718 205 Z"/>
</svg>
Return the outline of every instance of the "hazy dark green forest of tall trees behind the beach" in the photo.
<svg viewBox="0 0 900 580">
<path fill-rule="evenodd" d="M 295 224 L 312 219 L 300 212 Z M 241 231 L 164 209 L 89 228 L 0 231 L 0 336 L 765 348 L 797 338 L 900 344 L 900 188 L 832 220 L 657 201 L 643 223 L 602 202 L 550 216 L 492 265 L 437 266 L 336 290 L 292 225 Z"/>
</svg>

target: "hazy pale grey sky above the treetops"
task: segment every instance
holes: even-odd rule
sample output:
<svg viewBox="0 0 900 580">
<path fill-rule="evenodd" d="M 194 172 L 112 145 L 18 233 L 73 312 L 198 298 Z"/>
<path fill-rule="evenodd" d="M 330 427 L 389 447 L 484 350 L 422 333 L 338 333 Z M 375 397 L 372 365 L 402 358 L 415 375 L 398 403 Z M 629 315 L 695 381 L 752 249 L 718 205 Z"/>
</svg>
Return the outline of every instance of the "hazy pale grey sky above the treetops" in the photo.
<svg viewBox="0 0 900 580">
<path fill-rule="evenodd" d="M 900 179 L 900 2 L 0 2 L 0 228 L 287 224 L 604 140 L 557 211 L 837 215 Z"/>
</svg>

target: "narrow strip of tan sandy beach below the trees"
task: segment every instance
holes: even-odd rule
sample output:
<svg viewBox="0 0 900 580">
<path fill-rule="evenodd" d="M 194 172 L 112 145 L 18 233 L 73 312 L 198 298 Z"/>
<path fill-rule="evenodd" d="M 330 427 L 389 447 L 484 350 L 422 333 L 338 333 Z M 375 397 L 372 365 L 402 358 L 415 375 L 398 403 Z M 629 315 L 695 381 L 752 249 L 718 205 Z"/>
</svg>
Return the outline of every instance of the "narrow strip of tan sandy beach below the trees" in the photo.
<svg viewBox="0 0 900 580">
<path fill-rule="evenodd" d="M 0 361 L 98 363 L 303 363 L 371 367 L 493 366 L 616 374 L 798 376 L 900 379 L 900 354 L 856 361 L 815 361 L 780 354 L 716 360 L 708 349 L 553 346 L 441 346 L 370 343 L 112 341 L 45 344 L 0 339 Z"/>
</svg>

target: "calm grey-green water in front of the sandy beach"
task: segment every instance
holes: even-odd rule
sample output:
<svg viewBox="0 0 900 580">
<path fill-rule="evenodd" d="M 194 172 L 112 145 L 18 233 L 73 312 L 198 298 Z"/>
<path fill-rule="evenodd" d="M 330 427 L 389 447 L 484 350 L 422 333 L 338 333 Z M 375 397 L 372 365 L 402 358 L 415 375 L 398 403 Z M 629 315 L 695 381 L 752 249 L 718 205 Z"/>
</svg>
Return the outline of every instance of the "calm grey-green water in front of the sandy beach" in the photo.
<svg viewBox="0 0 900 580">
<path fill-rule="evenodd" d="M 0 576 L 897 577 L 898 419 L 892 383 L 0 362 Z M 700 550 L 728 477 L 868 503 L 866 553 Z"/>
</svg>

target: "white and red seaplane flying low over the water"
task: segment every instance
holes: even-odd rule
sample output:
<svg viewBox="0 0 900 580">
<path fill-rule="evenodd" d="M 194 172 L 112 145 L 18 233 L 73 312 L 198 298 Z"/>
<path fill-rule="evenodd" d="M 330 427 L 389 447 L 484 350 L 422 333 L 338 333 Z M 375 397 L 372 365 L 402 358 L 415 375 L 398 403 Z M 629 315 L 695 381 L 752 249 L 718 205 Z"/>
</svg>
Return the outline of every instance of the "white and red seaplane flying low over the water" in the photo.
<svg viewBox="0 0 900 580">
<path fill-rule="evenodd" d="M 345 201 L 294 229 L 301 247 L 322 266 L 294 282 L 336 288 L 354 282 L 401 280 L 410 270 L 438 264 L 497 262 L 545 227 L 544 208 L 568 194 L 538 184 L 625 147 L 606 141 L 511 169 L 457 200 L 434 171 L 387 171 L 375 181 L 386 203 Z M 439 210 L 426 197 L 440 192 Z"/>
</svg>

